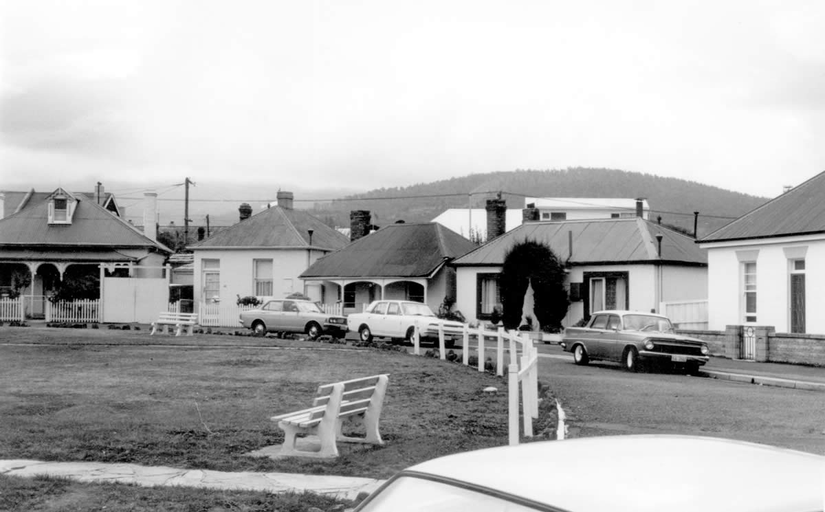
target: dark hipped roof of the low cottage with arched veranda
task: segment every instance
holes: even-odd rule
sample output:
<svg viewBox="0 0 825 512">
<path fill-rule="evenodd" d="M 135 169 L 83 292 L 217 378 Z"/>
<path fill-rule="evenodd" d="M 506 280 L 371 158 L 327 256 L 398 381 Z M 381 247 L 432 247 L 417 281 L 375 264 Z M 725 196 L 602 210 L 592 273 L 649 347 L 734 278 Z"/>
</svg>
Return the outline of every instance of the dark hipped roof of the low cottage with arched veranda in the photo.
<svg viewBox="0 0 825 512">
<path fill-rule="evenodd" d="M 301 277 L 427 277 L 474 247 L 439 223 L 390 224 L 323 256 Z"/>
</svg>

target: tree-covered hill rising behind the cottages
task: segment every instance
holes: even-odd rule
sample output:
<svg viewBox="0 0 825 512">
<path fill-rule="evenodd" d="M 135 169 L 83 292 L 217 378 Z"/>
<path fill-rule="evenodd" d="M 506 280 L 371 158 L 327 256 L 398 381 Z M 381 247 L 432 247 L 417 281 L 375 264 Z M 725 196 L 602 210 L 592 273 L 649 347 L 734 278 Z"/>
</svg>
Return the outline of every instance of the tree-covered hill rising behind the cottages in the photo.
<svg viewBox="0 0 825 512">
<path fill-rule="evenodd" d="M 497 192 L 509 208 L 523 208 L 525 197 L 643 197 L 650 218 L 693 233 L 698 211 L 698 233 L 721 228 L 767 198 L 741 194 L 695 181 L 615 169 L 568 168 L 552 171 L 500 171 L 471 174 L 413 186 L 381 188 L 341 200 L 314 204 L 313 213 L 330 225 L 349 226 L 353 209 L 372 213 L 376 225 L 398 220 L 428 222 L 449 208 L 483 208 Z"/>
</svg>

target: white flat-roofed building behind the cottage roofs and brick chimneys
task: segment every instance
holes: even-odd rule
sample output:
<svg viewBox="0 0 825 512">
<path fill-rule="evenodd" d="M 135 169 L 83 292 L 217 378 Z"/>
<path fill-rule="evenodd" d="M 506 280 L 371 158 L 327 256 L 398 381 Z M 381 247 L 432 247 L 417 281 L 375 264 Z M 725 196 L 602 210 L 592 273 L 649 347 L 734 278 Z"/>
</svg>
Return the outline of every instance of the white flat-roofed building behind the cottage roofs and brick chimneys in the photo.
<svg viewBox="0 0 825 512">
<path fill-rule="evenodd" d="M 638 209 L 641 209 L 641 212 Z M 633 217 L 648 219 L 650 217 L 650 205 L 644 199 L 528 197 L 525 198 L 523 209 L 507 209 L 504 232 L 507 233 L 520 226 L 526 218 L 525 215 L 530 215 L 530 220 L 559 221 Z M 465 238 L 475 236 L 482 242 L 488 240 L 487 209 L 450 208 L 433 218 L 432 222 L 440 223 Z"/>
</svg>

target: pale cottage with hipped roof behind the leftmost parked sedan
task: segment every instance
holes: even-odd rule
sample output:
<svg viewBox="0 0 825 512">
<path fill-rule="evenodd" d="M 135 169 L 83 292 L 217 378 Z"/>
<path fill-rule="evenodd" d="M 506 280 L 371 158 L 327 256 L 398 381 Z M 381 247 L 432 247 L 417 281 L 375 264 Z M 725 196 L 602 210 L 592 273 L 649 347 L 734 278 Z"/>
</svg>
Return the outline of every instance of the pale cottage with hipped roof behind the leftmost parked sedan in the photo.
<svg viewBox="0 0 825 512">
<path fill-rule="evenodd" d="M 190 247 L 196 303 L 234 305 L 238 296 L 282 298 L 293 292 L 323 300 L 325 290 L 304 289 L 299 276 L 349 241 L 318 218 L 293 209 L 292 201 L 291 192 L 278 192 L 277 206 Z"/>
</svg>

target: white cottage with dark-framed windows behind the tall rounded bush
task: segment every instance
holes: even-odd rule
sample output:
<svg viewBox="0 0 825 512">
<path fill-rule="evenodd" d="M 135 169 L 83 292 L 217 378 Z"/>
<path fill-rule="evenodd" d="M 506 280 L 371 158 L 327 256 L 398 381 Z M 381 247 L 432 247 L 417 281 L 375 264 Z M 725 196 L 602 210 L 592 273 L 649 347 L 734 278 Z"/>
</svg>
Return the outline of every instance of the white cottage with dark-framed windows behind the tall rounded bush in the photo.
<svg viewBox="0 0 825 512">
<path fill-rule="evenodd" d="M 490 319 L 500 303 L 504 257 L 528 240 L 550 247 L 567 265 L 571 304 L 563 326 L 600 309 L 656 312 L 662 302 L 707 297 L 705 251 L 691 237 L 641 217 L 526 222 L 453 262 L 456 308 L 468 320 Z"/>
</svg>

